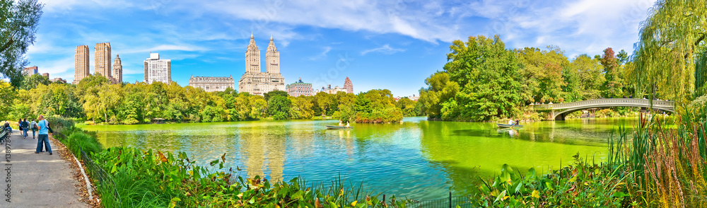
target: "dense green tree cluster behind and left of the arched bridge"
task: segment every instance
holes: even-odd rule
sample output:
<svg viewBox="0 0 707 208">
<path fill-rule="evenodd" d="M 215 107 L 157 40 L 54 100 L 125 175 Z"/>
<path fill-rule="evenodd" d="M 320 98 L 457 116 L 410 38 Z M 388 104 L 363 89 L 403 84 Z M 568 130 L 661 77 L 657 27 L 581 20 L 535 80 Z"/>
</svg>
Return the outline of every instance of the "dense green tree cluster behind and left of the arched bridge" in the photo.
<svg viewBox="0 0 707 208">
<path fill-rule="evenodd" d="M 447 59 L 443 71 L 420 89 L 419 102 L 432 119 L 534 120 L 537 115 L 527 108 L 531 103 L 648 97 L 633 79 L 628 53 L 616 54 L 611 47 L 602 55 L 570 60 L 559 47 L 509 50 L 498 35 L 479 35 L 452 42 Z"/>
</svg>

